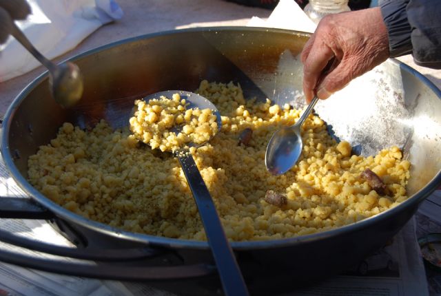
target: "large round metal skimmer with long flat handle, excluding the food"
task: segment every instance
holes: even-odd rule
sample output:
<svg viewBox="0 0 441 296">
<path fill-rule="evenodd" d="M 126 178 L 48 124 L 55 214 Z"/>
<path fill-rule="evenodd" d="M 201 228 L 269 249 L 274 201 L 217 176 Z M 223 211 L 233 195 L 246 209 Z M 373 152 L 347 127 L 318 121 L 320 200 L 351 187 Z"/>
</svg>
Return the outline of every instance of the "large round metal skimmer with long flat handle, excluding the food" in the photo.
<svg viewBox="0 0 441 296">
<path fill-rule="evenodd" d="M 145 102 L 148 102 L 154 98 L 160 98 L 165 96 L 167 98 L 172 98 L 173 94 L 180 94 L 181 98 L 185 99 L 189 105 L 187 109 L 212 109 L 213 114 L 216 114 L 216 122 L 218 124 L 218 131 L 222 126 L 222 121 L 220 120 L 220 113 L 216 106 L 212 102 L 208 101 L 203 96 L 194 94 L 192 92 L 184 92 L 181 90 L 169 90 L 165 92 L 158 92 L 156 94 L 150 94 L 143 98 Z M 175 128 L 175 131 L 178 127 Z M 196 145 L 190 143 L 190 147 L 199 147 L 205 143 Z M 201 173 L 196 167 L 194 158 L 189 152 L 189 149 L 182 148 L 174 152 L 174 156 L 178 158 L 179 163 L 184 171 L 185 178 L 189 184 L 190 189 L 193 193 L 193 198 L 198 207 L 199 215 L 205 229 L 205 234 L 207 235 L 207 240 L 210 248 L 212 249 L 214 261 L 218 268 L 220 275 L 220 281 L 223 285 L 223 290 L 225 295 L 248 295 L 247 286 L 243 279 L 242 273 L 240 273 L 240 268 L 236 262 L 236 257 L 232 247 L 229 245 L 225 231 L 223 231 L 222 224 L 220 224 L 220 219 L 214 207 L 214 202 L 211 195 L 205 185 L 205 182 L 201 176 Z"/>
</svg>

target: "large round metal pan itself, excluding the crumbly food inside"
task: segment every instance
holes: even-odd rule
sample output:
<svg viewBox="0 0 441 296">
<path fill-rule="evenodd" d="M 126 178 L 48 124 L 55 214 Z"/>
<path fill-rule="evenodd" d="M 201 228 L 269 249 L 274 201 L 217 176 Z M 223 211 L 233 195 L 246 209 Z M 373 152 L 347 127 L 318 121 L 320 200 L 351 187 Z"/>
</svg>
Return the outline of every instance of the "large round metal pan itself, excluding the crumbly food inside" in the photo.
<svg viewBox="0 0 441 296">
<path fill-rule="evenodd" d="M 183 264 L 207 262 L 211 260 L 207 242 L 121 231 L 54 204 L 26 180 L 28 157 L 54 138 L 65 121 L 85 126 L 105 118 L 113 127 L 127 125 L 134 98 L 164 89 L 192 91 L 202 79 L 235 81 L 247 97 L 301 107 L 304 99 L 298 96 L 302 85 L 298 55 L 308 38 L 302 32 L 266 28 L 197 28 L 139 36 L 86 52 L 73 59 L 85 77 L 85 94 L 73 109 L 61 109 L 54 103 L 47 74 L 14 100 L 3 122 L 3 160 L 32 201 L 72 229 L 114 237 L 115 243 L 124 242 L 126 246 L 172 250 L 184 258 Z M 331 231 L 285 240 L 233 242 L 247 283 L 271 288 L 293 284 L 281 283 L 277 277 L 269 280 L 271 273 L 280 271 L 286 271 L 298 283 L 331 275 L 358 262 L 397 233 L 418 203 L 441 183 L 440 98 L 440 90 L 427 78 L 389 60 L 329 100 L 320 101 L 316 112 L 329 123 L 334 136 L 349 140 L 356 152 L 374 154 L 390 145 L 403 149 L 404 157 L 412 163 L 407 187 L 411 198 L 389 211 Z M 8 256 L 0 256 L 0 260 L 14 262 Z M 29 261 L 14 263 L 41 268 Z M 92 273 L 92 269 L 79 273 L 72 268 L 70 273 L 116 277 Z M 142 278 L 139 273 L 116 278 L 130 276 Z"/>
</svg>

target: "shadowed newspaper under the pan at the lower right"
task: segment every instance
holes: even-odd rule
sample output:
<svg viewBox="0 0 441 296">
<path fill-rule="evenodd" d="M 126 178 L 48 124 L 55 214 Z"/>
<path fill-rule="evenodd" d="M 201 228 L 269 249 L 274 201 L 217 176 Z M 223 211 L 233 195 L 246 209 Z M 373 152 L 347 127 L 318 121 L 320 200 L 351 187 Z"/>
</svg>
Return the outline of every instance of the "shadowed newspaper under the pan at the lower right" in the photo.
<svg viewBox="0 0 441 296">
<path fill-rule="evenodd" d="M 366 257 L 352 270 L 290 295 L 429 295 L 416 240 L 415 219 L 412 218 L 390 244 Z"/>
</svg>

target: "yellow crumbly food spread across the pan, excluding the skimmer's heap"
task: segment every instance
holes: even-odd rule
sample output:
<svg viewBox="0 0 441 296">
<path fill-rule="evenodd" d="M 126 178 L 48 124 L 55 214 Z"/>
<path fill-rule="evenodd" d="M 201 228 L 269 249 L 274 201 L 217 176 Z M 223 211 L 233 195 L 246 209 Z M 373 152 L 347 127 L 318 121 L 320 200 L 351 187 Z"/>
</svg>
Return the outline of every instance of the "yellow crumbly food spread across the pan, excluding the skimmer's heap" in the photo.
<svg viewBox="0 0 441 296">
<path fill-rule="evenodd" d="M 229 239 L 272 240 L 307 235 L 376 215 L 407 199 L 410 162 L 398 147 L 376 156 L 351 155 L 325 123 L 311 114 L 302 126 L 300 159 L 282 176 L 265 167 L 265 149 L 300 110 L 247 100 L 234 83 L 202 81 L 196 90 L 222 114 L 222 129 L 207 145 L 190 151 L 212 194 Z M 239 141 L 252 129 L 247 145 Z M 43 195 L 86 218 L 126 231 L 206 240 L 178 160 L 139 145 L 127 130 L 101 121 L 84 131 L 64 123 L 50 145 L 29 158 L 29 180 Z M 361 174 L 370 169 L 388 195 Z M 283 195 L 271 204 L 267 192 Z M 273 202 L 274 203 L 274 202 Z"/>
</svg>

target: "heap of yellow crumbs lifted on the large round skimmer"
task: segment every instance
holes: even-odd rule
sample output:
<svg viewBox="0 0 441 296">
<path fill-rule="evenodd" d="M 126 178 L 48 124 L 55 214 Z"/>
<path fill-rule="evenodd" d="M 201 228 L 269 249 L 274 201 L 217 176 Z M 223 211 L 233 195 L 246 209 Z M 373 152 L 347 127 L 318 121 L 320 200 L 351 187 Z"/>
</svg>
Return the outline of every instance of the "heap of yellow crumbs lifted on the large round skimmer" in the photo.
<svg viewBox="0 0 441 296">
<path fill-rule="evenodd" d="M 211 109 L 186 109 L 179 94 L 161 96 L 149 102 L 135 101 L 136 111 L 130 118 L 130 130 L 152 149 L 175 151 L 188 143 L 202 144 L 218 131 L 216 115 Z M 181 131 L 172 130 L 181 126 Z"/>
</svg>

